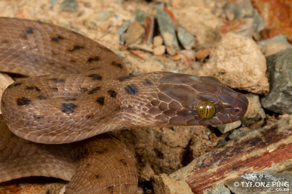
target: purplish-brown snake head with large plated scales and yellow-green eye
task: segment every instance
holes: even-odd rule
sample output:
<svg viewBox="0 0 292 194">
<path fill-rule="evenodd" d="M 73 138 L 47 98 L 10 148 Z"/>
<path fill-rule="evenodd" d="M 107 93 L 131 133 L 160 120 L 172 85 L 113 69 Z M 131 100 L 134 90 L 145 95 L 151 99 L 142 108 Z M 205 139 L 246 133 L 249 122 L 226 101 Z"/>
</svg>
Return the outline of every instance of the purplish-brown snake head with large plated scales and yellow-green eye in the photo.
<svg viewBox="0 0 292 194">
<path fill-rule="evenodd" d="M 157 80 L 157 99 L 148 111 L 158 113 L 158 122 L 167 126 L 226 124 L 241 119 L 248 100 L 215 77 L 162 73 Z"/>
</svg>

